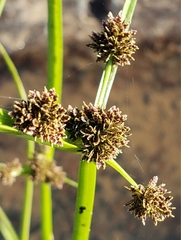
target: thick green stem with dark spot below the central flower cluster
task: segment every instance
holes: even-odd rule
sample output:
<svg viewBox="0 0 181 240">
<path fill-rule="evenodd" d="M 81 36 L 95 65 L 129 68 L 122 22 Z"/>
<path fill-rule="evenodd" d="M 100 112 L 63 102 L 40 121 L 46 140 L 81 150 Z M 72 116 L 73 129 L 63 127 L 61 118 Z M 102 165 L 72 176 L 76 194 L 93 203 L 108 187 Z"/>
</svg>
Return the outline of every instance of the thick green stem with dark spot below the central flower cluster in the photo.
<svg viewBox="0 0 181 240">
<path fill-rule="evenodd" d="M 96 173 L 97 169 L 94 162 L 88 163 L 87 161 L 81 161 L 73 240 L 87 240 L 89 238 L 94 205 Z"/>
</svg>

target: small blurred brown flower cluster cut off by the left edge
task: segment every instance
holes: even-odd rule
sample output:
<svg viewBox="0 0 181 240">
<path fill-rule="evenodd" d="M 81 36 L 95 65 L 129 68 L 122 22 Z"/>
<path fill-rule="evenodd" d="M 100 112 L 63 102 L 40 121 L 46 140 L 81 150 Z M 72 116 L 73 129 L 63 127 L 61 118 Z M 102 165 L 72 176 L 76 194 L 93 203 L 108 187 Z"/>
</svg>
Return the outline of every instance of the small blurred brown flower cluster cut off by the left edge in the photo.
<svg viewBox="0 0 181 240">
<path fill-rule="evenodd" d="M 15 158 L 12 162 L 3 164 L 0 168 L 0 179 L 3 185 L 12 185 L 16 181 L 16 177 L 22 171 L 22 165 L 18 158 Z"/>
</svg>

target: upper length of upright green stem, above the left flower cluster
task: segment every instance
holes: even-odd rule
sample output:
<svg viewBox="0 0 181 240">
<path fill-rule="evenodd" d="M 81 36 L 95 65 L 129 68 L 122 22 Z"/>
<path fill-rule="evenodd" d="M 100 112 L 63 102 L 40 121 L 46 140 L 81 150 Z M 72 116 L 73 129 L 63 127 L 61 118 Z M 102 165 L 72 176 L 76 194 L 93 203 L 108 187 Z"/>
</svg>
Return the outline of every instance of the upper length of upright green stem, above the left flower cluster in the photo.
<svg viewBox="0 0 181 240">
<path fill-rule="evenodd" d="M 63 79 L 62 1 L 48 0 L 48 88 L 61 99 Z"/>
</svg>

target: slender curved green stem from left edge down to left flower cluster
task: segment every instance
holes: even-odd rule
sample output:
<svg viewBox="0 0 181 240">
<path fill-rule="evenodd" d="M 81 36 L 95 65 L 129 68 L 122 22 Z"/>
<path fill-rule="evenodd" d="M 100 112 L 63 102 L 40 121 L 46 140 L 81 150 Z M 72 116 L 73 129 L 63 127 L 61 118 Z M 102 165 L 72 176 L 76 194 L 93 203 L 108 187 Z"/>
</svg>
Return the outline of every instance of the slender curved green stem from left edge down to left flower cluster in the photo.
<svg viewBox="0 0 181 240">
<path fill-rule="evenodd" d="M 11 73 L 11 76 L 16 84 L 16 87 L 18 89 L 18 93 L 20 95 L 20 97 L 24 100 L 26 100 L 27 96 L 26 96 L 26 92 L 23 86 L 23 83 L 21 81 L 21 78 L 18 74 L 18 71 L 14 65 L 14 63 L 12 62 L 11 58 L 9 57 L 8 53 L 6 52 L 5 48 L 3 47 L 3 45 L 0 43 L 0 53 L 2 54 L 4 61 Z"/>
</svg>

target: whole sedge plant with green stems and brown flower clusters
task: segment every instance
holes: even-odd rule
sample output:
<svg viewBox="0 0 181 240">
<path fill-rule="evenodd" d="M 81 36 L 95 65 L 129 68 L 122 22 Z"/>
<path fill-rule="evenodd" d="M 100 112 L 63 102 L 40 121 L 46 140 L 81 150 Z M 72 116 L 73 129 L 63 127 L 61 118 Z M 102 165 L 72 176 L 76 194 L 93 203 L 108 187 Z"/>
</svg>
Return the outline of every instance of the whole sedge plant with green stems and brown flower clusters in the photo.
<svg viewBox="0 0 181 240">
<path fill-rule="evenodd" d="M 15 101 L 13 110 L 0 109 L 0 132 L 27 140 L 28 161 L 22 165 L 18 159 L 0 164 L 0 179 L 12 185 L 19 175 L 26 176 L 25 199 L 22 210 L 21 229 L 17 233 L 10 220 L 0 208 L 0 231 L 5 239 L 28 240 L 34 182 L 40 184 L 41 192 L 41 239 L 52 240 L 53 217 L 51 188 L 61 189 L 64 183 L 77 188 L 75 219 L 72 239 L 89 239 L 96 194 L 98 170 L 108 164 L 130 183 L 126 187 L 132 200 L 125 204 L 134 216 L 142 220 L 151 217 L 154 225 L 166 217 L 174 217 L 172 196 L 165 184 L 157 186 L 154 176 L 147 186 L 137 184 L 116 162 L 123 147 L 129 147 L 130 128 L 126 126 L 127 115 L 113 106 L 106 110 L 111 88 L 119 66 L 130 65 L 138 47 L 135 30 L 129 30 L 136 0 L 126 0 L 123 10 L 116 17 L 110 12 L 103 21 L 103 30 L 93 32 L 87 44 L 97 54 L 97 62 L 105 68 L 94 104 L 83 102 L 82 108 L 64 108 L 61 105 L 63 90 L 63 34 L 62 2 L 48 0 L 48 81 L 40 93 L 30 90 L 26 95 L 21 78 L 3 45 L 0 53 L 6 62 L 19 91 L 21 101 Z M 35 143 L 41 144 L 41 152 L 35 151 Z M 55 149 L 81 155 L 78 183 L 67 177 L 54 160 Z"/>
</svg>

